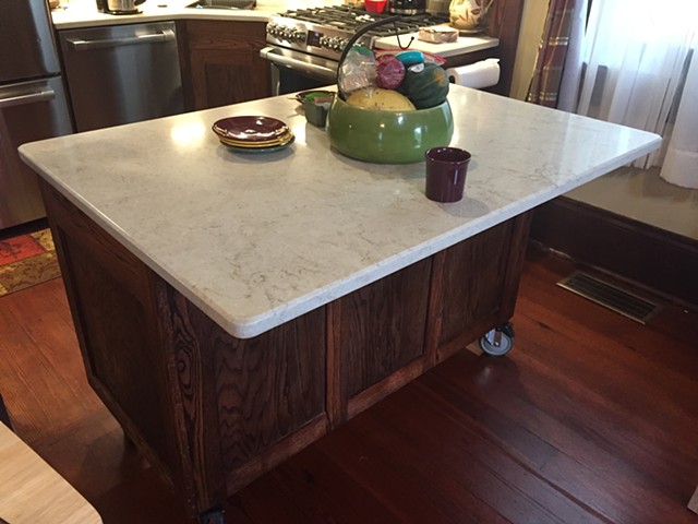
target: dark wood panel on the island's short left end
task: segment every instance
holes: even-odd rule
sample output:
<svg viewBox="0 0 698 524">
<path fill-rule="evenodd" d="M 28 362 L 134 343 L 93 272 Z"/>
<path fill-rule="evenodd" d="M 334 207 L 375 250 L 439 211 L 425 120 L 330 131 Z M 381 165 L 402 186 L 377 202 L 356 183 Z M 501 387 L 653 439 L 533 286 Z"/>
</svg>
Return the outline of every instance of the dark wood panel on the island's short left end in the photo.
<svg viewBox="0 0 698 524">
<path fill-rule="evenodd" d="M 41 182 L 87 379 L 148 461 L 182 472 L 151 273 Z"/>
</svg>

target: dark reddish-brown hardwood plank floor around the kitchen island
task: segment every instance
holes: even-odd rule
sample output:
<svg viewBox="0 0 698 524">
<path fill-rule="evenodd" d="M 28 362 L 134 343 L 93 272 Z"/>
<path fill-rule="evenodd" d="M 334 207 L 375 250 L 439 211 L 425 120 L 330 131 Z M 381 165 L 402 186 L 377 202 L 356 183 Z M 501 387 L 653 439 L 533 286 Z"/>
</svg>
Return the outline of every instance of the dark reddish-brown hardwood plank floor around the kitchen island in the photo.
<svg viewBox="0 0 698 524">
<path fill-rule="evenodd" d="M 648 325 L 529 252 L 505 358 L 464 349 L 230 499 L 226 523 L 698 523 L 698 315 Z M 16 432 L 105 523 L 183 504 L 87 385 L 60 279 L 0 298 Z"/>
</svg>

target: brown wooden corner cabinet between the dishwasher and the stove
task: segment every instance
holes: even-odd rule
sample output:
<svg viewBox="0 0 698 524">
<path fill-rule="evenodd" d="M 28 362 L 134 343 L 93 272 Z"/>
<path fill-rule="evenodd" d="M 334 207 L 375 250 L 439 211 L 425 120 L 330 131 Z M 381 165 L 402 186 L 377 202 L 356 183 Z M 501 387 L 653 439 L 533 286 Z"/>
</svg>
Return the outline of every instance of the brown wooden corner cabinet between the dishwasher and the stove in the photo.
<svg viewBox="0 0 698 524">
<path fill-rule="evenodd" d="M 188 110 L 272 95 L 264 22 L 186 20 L 178 29 Z"/>
</svg>

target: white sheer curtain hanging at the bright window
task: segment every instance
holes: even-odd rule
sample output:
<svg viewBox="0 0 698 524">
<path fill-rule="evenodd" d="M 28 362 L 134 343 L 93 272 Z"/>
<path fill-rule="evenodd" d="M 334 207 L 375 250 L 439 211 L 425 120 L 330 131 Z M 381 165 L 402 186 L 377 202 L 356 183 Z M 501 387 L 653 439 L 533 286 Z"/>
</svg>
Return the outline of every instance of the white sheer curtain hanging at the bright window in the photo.
<svg viewBox="0 0 698 524">
<path fill-rule="evenodd" d="M 661 134 L 663 147 L 638 160 L 640 167 L 661 165 L 667 148 L 681 152 L 687 144 L 693 162 L 681 153 L 675 156 L 681 160 L 671 162 L 689 164 L 698 186 L 698 112 L 695 102 L 679 105 L 682 94 L 690 94 L 691 87 L 684 87 L 689 61 L 693 76 L 698 69 L 698 52 L 690 60 L 696 46 L 698 0 L 593 0 L 581 46 L 586 70 L 577 112 Z"/>
</svg>

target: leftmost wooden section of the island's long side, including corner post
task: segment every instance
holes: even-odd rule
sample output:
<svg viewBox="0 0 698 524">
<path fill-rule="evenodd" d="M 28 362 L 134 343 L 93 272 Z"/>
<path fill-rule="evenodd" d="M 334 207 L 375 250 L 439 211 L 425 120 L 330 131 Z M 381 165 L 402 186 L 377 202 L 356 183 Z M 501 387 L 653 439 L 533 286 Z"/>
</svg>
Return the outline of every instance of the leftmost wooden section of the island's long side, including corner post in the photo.
<svg viewBox="0 0 698 524">
<path fill-rule="evenodd" d="M 166 300 L 186 448 L 229 495 L 327 432 L 323 308 L 241 340 L 173 289 Z"/>
</svg>

